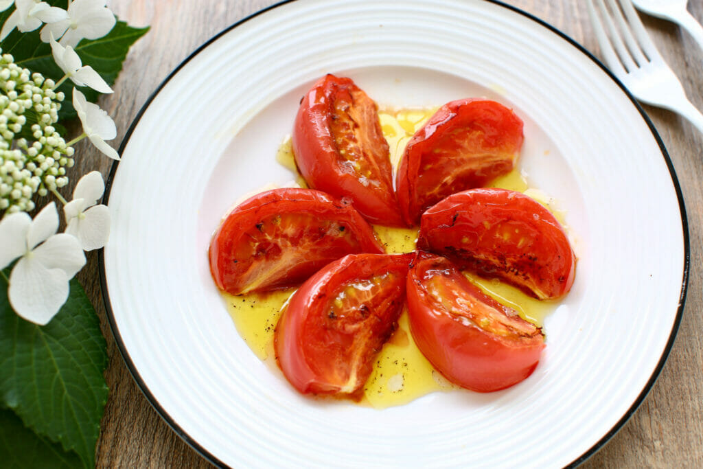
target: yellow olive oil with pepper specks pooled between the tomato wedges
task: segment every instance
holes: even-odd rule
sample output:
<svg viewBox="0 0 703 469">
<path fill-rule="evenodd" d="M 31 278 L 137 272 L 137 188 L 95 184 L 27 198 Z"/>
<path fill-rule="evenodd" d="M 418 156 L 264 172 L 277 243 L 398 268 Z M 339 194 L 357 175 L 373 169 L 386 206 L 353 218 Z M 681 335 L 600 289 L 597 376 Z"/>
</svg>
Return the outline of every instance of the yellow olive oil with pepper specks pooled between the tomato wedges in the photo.
<svg viewBox="0 0 703 469">
<path fill-rule="evenodd" d="M 437 108 L 380 111 L 381 127 L 389 144 L 394 171 L 406 143 L 436 110 Z M 284 139 L 280 144 L 276 160 L 290 169 L 296 181 L 302 181 L 304 184 L 295 167 L 290 138 Z M 491 186 L 520 192 L 530 190 L 527 181 L 517 169 L 499 177 L 491 183 Z M 535 193 L 541 195 L 539 191 Z M 538 201 L 553 210 L 548 205 L 552 202 L 550 198 L 543 195 L 540 199 Z M 412 252 L 415 249 L 417 228 L 375 225 L 373 229 L 388 253 Z M 535 300 L 499 281 L 486 280 L 471 274 L 465 275 L 484 293 L 517 310 L 522 318 L 538 326 L 542 326 L 545 316 L 557 306 L 557 302 Z M 288 288 L 271 293 L 240 296 L 224 294 L 229 314 L 243 340 L 259 359 L 269 361 L 269 364 L 273 364 L 275 360 L 273 331 L 280 317 L 280 310 L 294 292 L 295 288 Z M 398 323 L 398 330 L 376 357 L 374 370 L 364 386 L 360 404 L 369 405 L 375 409 L 385 409 L 407 404 L 430 392 L 457 389 L 459 388 L 456 385 L 449 383 L 435 371 L 430 362 L 420 353 L 410 333 L 407 312 L 404 311 Z"/>
</svg>

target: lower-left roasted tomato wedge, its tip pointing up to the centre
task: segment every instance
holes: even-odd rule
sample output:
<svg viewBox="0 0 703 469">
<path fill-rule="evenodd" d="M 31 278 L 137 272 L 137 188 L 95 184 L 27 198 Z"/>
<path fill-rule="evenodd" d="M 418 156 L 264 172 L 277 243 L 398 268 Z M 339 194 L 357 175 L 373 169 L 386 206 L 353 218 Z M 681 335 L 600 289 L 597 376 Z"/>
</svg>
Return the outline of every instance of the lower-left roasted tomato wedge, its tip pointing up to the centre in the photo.
<svg viewBox="0 0 703 469">
<path fill-rule="evenodd" d="M 311 276 L 278 321 L 276 358 L 304 394 L 359 398 L 397 327 L 414 255 L 359 254 Z"/>
</svg>

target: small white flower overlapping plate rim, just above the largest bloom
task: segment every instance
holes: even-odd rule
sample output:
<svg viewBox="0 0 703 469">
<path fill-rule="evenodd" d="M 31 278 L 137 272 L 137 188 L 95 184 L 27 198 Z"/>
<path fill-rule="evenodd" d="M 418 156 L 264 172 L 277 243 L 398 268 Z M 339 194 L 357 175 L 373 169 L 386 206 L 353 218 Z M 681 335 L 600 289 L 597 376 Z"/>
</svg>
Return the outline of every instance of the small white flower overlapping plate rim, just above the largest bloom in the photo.
<svg viewBox="0 0 703 469">
<path fill-rule="evenodd" d="M 76 184 L 73 200 L 63 206 L 66 233 L 78 238 L 86 251 L 102 248 L 110 236 L 110 210 L 106 205 L 96 205 L 103 192 L 103 175 L 89 172 Z"/>
</svg>

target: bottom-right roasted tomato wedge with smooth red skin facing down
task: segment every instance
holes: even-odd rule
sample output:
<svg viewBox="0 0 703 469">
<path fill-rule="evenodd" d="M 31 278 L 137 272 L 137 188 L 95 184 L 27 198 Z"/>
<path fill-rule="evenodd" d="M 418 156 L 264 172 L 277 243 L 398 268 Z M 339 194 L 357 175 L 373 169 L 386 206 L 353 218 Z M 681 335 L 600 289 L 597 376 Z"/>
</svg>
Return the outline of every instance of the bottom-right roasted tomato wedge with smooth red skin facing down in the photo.
<svg viewBox="0 0 703 469">
<path fill-rule="evenodd" d="M 540 328 L 485 295 L 449 259 L 427 253 L 408 272 L 408 318 L 434 368 L 474 391 L 520 383 L 544 348 Z"/>
</svg>

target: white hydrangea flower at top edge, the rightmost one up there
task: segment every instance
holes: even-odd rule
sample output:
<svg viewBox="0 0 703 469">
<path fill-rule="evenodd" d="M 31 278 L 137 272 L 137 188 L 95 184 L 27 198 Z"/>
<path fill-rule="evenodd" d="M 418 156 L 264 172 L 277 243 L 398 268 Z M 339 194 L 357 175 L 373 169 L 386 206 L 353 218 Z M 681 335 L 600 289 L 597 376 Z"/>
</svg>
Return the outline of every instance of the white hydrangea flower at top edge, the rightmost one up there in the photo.
<svg viewBox="0 0 703 469">
<path fill-rule="evenodd" d="M 105 36 L 116 22 L 115 15 L 105 6 L 105 0 L 69 0 L 67 18 L 44 26 L 40 37 L 49 42 L 53 34 L 53 37 L 61 38 L 61 45 L 75 47 L 82 39 Z"/>
</svg>

